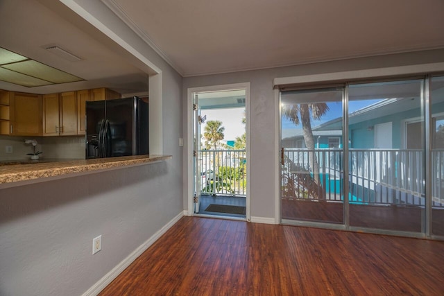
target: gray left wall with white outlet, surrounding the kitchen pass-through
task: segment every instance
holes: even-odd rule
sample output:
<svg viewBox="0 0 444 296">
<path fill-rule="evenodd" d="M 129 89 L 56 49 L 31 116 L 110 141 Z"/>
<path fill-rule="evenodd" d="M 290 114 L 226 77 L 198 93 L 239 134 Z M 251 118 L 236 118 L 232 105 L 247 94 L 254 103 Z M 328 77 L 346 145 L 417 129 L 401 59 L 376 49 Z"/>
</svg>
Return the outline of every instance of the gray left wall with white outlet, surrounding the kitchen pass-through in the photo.
<svg viewBox="0 0 444 296">
<path fill-rule="evenodd" d="M 182 77 L 100 1 L 84 3 L 162 69 L 163 152 L 173 158 L 0 189 L 0 295 L 85 293 L 184 208 Z"/>
</svg>

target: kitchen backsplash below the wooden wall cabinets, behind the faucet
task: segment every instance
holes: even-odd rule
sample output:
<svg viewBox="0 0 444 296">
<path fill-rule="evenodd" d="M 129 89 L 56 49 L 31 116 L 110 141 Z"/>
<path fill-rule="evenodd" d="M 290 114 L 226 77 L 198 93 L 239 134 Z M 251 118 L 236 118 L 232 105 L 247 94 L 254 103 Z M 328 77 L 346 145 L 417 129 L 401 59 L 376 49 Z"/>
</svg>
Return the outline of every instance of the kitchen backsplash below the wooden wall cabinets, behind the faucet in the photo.
<svg viewBox="0 0 444 296">
<path fill-rule="evenodd" d="M 85 159 L 85 137 L 12 137 L 0 136 L 0 161 L 29 159 L 33 146 L 25 139 L 37 140 L 36 150 L 46 159 Z M 10 150 L 12 153 L 6 153 Z M 7 149 L 8 148 L 8 149 Z"/>
</svg>

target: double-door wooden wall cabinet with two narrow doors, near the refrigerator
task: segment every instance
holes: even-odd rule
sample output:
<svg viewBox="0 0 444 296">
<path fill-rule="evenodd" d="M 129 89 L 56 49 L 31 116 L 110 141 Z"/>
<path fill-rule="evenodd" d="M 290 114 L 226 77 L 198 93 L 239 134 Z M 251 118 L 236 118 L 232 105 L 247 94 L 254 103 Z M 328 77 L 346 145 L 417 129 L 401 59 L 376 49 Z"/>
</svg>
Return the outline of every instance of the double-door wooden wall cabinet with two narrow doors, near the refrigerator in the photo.
<svg viewBox="0 0 444 296">
<path fill-rule="evenodd" d="M 77 134 L 76 92 L 43 96 L 43 135 L 68 136 Z"/>
</svg>

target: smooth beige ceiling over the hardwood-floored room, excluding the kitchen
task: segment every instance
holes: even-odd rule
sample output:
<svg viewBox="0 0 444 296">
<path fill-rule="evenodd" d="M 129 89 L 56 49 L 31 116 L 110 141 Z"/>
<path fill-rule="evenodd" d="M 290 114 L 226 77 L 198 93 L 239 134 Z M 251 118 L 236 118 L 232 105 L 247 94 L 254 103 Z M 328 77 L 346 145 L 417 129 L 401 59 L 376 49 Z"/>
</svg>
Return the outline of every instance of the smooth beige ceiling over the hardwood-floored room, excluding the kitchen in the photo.
<svg viewBox="0 0 444 296">
<path fill-rule="evenodd" d="M 444 48 L 443 0 L 102 0 L 182 74 Z"/>
</svg>

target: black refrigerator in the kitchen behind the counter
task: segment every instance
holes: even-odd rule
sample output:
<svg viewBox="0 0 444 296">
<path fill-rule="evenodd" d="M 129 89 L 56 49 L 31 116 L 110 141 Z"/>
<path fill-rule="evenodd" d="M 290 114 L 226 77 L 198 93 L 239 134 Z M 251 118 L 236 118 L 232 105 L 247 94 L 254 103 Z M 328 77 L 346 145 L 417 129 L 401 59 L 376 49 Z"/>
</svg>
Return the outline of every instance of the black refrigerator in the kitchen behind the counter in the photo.
<svg viewBox="0 0 444 296">
<path fill-rule="evenodd" d="M 86 102 L 86 158 L 148 154 L 148 99 Z"/>
</svg>

